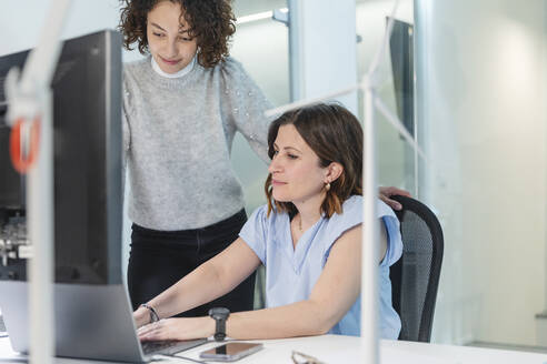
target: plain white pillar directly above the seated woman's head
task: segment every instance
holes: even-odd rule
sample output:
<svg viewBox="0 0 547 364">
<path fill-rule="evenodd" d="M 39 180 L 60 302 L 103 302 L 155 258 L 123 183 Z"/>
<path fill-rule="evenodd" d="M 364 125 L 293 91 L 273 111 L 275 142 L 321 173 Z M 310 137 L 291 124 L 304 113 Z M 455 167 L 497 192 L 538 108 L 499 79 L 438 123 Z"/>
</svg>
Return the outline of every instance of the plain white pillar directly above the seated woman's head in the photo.
<svg viewBox="0 0 547 364">
<path fill-rule="evenodd" d="M 355 0 L 294 0 L 289 4 L 292 98 L 321 98 L 355 85 Z M 358 113 L 357 92 L 332 99 Z"/>
</svg>

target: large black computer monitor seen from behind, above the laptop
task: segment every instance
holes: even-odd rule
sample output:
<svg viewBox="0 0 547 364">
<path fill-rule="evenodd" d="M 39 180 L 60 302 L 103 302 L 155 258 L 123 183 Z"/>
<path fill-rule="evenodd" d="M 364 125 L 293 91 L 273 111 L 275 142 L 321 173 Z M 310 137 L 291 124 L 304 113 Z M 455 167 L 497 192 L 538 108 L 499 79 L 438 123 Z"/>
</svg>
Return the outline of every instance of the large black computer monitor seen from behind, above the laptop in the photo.
<svg viewBox="0 0 547 364">
<path fill-rule="evenodd" d="M 4 81 L 29 51 L 0 58 L 0 280 L 27 279 L 26 178 L 10 162 Z M 64 41 L 53 91 L 57 283 L 121 282 L 121 36 Z M 33 242 L 30 242 L 30 246 Z"/>
</svg>

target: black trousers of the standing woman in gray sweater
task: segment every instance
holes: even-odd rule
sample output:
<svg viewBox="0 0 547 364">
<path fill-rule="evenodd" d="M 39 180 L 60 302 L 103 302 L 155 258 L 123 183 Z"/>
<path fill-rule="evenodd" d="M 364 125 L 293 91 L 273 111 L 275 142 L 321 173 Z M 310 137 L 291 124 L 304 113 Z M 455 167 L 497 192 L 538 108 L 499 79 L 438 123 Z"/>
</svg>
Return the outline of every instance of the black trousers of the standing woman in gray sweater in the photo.
<svg viewBox="0 0 547 364">
<path fill-rule="evenodd" d="M 133 310 L 223 251 L 238 237 L 246 220 L 245 210 L 241 210 L 203 229 L 157 231 L 133 224 L 127 272 Z M 178 316 L 206 316 L 211 307 L 227 307 L 230 312 L 252 310 L 255 275 L 252 273 L 225 296 Z"/>
</svg>

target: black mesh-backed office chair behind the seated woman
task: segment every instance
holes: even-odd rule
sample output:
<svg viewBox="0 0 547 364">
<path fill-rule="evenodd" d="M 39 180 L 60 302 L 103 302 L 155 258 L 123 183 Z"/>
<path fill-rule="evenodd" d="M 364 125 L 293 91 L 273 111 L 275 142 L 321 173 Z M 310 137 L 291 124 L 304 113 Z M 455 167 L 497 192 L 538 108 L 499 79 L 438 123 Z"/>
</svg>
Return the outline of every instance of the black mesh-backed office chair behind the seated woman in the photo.
<svg viewBox="0 0 547 364">
<path fill-rule="evenodd" d="M 442 263 L 442 230 L 425 204 L 406 196 L 391 196 L 402 205 L 400 221 L 402 256 L 391 265 L 391 300 L 401 320 L 399 340 L 429 342 Z"/>
</svg>

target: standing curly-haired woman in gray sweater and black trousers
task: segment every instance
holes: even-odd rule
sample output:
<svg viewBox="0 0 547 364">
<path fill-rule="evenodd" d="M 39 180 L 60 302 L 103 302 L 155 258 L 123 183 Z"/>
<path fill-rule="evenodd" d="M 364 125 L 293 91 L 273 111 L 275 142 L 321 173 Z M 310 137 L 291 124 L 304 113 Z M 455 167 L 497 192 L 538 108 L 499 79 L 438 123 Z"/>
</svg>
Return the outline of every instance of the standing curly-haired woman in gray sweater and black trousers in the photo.
<svg viewBox="0 0 547 364">
<path fill-rule="evenodd" d="M 133 310 L 237 239 L 247 218 L 230 164 L 236 131 L 268 160 L 271 105 L 228 57 L 233 21 L 228 0 L 122 1 L 125 47 L 149 53 L 123 71 Z M 255 274 L 185 315 L 251 310 L 253 287 Z"/>
</svg>

